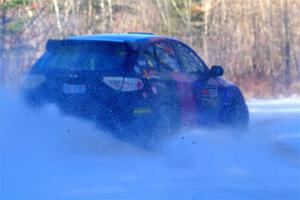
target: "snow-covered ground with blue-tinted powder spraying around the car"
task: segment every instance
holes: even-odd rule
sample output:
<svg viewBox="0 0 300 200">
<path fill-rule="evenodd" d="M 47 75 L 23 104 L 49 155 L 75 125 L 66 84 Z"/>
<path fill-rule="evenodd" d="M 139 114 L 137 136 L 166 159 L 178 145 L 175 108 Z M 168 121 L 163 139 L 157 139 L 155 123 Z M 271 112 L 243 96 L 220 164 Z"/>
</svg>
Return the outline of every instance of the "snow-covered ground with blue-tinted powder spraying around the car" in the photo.
<svg viewBox="0 0 300 200">
<path fill-rule="evenodd" d="M 183 130 L 146 151 L 2 91 L 0 199 L 300 199 L 300 99 L 248 105 L 248 132 Z"/>
</svg>

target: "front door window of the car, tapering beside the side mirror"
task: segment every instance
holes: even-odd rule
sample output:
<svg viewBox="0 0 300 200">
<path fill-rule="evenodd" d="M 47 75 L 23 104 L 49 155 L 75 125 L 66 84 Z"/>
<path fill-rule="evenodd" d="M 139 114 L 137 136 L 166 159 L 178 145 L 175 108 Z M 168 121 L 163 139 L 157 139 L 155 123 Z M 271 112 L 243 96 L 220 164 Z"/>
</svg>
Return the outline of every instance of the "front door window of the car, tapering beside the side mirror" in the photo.
<svg viewBox="0 0 300 200">
<path fill-rule="evenodd" d="M 174 43 L 174 46 L 185 72 L 201 73 L 207 70 L 203 61 L 190 48 L 178 42 Z"/>
</svg>

